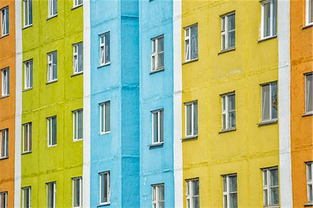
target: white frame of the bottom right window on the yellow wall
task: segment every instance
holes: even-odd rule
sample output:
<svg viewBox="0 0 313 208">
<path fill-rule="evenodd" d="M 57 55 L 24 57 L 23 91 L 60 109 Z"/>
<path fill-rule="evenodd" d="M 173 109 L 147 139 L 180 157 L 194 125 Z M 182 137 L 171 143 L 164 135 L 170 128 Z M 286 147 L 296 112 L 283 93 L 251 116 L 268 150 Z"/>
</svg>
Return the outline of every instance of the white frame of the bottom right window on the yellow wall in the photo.
<svg viewBox="0 0 313 208">
<path fill-rule="evenodd" d="M 277 205 L 270 205 L 271 204 L 271 189 L 272 188 L 278 188 L 278 191 L 279 191 L 279 179 L 278 179 L 278 185 L 277 186 L 271 186 L 271 170 L 278 170 L 278 167 L 272 167 L 272 168 L 264 168 L 262 169 L 262 184 L 263 184 L 263 206 L 264 207 L 279 207 L 280 205 L 277 204 Z M 264 176 L 264 173 L 266 172 L 266 185 L 264 184 L 264 179 L 265 179 L 265 176 Z M 279 174 L 278 174 L 279 175 Z M 267 195 L 265 196 L 264 195 L 264 191 L 267 191 Z M 265 205 L 265 202 L 264 202 L 264 198 L 266 197 L 267 199 L 267 205 Z M 279 193 L 278 193 L 278 199 L 279 199 Z"/>
</svg>

